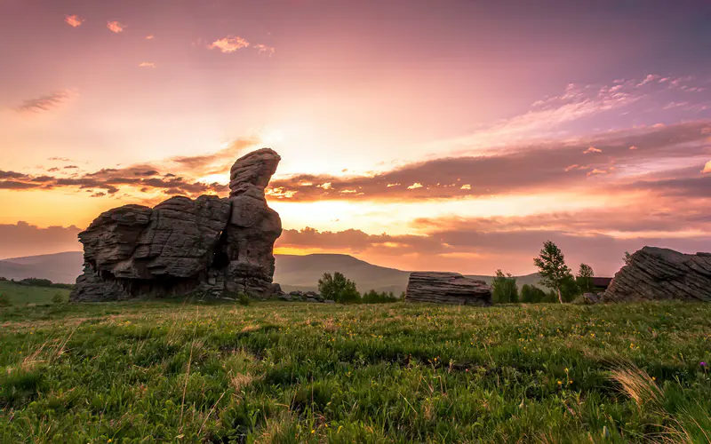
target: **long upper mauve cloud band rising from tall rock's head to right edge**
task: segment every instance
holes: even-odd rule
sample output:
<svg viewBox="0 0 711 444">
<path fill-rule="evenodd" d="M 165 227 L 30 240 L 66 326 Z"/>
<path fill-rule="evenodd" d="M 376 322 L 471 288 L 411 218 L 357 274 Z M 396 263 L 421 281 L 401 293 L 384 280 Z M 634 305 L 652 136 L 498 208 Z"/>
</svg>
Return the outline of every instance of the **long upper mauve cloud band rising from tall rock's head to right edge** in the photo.
<svg viewBox="0 0 711 444">
<path fill-rule="evenodd" d="M 416 200 L 586 186 L 589 180 L 613 176 L 630 165 L 665 157 L 706 155 L 711 152 L 707 143 L 709 125 L 682 123 L 566 144 L 519 147 L 502 155 L 440 158 L 371 176 L 302 174 L 273 180 L 269 193 L 273 198 L 292 201 Z M 584 155 L 591 144 L 602 153 Z M 638 148 L 630 150 L 632 146 Z"/>
</svg>

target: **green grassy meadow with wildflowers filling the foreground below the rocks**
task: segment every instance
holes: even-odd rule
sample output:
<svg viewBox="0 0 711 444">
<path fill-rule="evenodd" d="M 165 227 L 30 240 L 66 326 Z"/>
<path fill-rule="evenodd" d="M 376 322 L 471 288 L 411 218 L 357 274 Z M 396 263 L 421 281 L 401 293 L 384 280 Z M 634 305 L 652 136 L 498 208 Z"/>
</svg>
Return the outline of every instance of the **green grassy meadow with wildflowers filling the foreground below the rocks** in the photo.
<svg viewBox="0 0 711 444">
<path fill-rule="evenodd" d="M 0 309 L 2 442 L 707 442 L 711 305 Z"/>
</svg>

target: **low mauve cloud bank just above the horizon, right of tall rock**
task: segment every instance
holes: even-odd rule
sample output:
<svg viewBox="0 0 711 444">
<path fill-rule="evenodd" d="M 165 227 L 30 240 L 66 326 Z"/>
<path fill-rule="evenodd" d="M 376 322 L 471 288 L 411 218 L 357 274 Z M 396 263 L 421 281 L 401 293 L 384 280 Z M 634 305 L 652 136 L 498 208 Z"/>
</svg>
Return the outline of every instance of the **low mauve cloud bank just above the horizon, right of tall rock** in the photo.
<svg viewBox="0 0 711 444">
<path fill-rule="evenodd" d="M 585 262 L 598 275 L 614 274 L 622 266 L 625 251 L 639 250 L 645 245 L 691 253 L 711 250 L 711 234 L 683 238 L 676 235 L 677 230 L 683 229 L 711 233 L 711 218 L 702 210 L 688 210 L 676 217 L 671 212 L 646 216 L 630 210 L 608 221 L 602 219 L 605 215 L 613 216 L 612 211 L 601 210 L 589 216 L 580 212 L 530 218 L 419 219 L 414 225 L 423 235 L 373 235 L 352 229 L 319 232 L 307 227 L 284 230 L 276 247 L 346 252 L 405 270 L 493 274 L 502 268 L 515 274 L 529 274 L 535 271 L 532 258 L 537 256 L 543 242 L 551 240 L 563 250 L 569 266 L 577 269 Z M 638 226 L 634 226 L 635 216 L 642 220 Z M 629 235 L 604 233 L 616 230 L 628 231 Z"/>
</svg>

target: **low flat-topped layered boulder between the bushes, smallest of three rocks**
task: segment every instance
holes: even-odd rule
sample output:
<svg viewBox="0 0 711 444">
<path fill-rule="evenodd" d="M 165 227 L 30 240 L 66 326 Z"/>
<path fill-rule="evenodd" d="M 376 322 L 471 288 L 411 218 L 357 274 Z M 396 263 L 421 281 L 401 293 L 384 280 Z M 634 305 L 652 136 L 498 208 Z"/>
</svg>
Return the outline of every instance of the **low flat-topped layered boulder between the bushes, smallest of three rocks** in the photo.
<svg viewBox="0 0 711 444">
<path fill-rule="evenodd" d="M 405 301 L 491 305 L 491 288 L 458 273 L 414 272 L 407 282 Z"/>
</svg>

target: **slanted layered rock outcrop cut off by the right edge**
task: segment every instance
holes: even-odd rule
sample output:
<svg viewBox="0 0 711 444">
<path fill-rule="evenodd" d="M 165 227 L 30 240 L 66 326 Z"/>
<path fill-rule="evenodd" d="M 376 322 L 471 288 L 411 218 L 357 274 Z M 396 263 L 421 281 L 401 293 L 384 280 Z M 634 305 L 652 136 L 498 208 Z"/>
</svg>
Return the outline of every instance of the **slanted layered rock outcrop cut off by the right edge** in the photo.
<svg viewBox="0 0 711 444">
<path fill-rule="evenodd" d="M 711 253 L 644 247 L 603 295 L 603 302 L 663 299 L 711 301 Z"/>
</svg>

